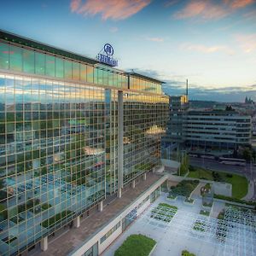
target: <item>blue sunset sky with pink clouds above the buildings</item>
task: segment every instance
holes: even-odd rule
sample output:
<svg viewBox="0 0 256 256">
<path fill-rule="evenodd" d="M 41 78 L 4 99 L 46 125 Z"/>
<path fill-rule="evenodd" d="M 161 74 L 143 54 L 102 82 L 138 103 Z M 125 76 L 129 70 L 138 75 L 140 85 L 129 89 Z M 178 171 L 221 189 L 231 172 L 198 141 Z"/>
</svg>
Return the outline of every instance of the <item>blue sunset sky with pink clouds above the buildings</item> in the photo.
<svg viewBox="0 0 256 256">
<path fill-rule="evenodd" d="M 256 0 L 1 0 L 0 28 L 166 82 L 170 95 L 256 101 Z"/>
</svg>

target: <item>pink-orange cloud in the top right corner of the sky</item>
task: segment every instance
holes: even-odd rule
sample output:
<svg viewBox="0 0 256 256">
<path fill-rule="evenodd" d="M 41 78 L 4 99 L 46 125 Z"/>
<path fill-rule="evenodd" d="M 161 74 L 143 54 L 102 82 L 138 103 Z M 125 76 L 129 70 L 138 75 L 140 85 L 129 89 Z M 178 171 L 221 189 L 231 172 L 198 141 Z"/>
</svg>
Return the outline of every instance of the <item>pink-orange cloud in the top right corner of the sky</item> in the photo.
<svg viewBox="0 0 256 256">
<path fill-rule="evenodd" d="M 176 19 L 202 18 L 217 20 L 230 15 L 236 9 L 241 9 L 255 3 L 255 0 L 190 0 L 183 9 L 174 14 Z"/>
</svg>

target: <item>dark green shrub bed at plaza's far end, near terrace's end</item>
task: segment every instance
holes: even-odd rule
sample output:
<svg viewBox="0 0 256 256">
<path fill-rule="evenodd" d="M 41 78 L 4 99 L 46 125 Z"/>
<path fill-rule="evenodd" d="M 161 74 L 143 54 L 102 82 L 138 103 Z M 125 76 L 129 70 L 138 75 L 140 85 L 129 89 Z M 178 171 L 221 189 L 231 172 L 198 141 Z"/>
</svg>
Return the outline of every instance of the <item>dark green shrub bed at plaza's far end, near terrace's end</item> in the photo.
<svg viewBox="0 0 256 256">
<path fill-rule="evenodd" d="M 173 197 L 177 195 L 183 195 L 189 198 L 191 192 L 196 188 L 198 183 L 199 183 L 198 180 L 183 180 L 180 183 L 177 183 L 177 186 L 171 187 L 169 196 L 172 195 Z"/>
</svg>

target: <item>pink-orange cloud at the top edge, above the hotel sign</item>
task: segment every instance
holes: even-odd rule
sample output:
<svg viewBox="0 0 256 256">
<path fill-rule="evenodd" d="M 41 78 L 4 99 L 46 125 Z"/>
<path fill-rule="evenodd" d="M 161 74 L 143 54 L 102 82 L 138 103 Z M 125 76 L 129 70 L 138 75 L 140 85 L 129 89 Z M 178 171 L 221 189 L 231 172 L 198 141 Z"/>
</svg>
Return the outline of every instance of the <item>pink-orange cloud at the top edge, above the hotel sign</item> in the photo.
<svg viewBox="0 0 256 256">
<path fill-rule="evenodd" d="M 102 20 L 125 20 L 150 2 L 151 0 L 71 0 L 70 8 L 80 15 L 102 15 Z"/>
</svg>

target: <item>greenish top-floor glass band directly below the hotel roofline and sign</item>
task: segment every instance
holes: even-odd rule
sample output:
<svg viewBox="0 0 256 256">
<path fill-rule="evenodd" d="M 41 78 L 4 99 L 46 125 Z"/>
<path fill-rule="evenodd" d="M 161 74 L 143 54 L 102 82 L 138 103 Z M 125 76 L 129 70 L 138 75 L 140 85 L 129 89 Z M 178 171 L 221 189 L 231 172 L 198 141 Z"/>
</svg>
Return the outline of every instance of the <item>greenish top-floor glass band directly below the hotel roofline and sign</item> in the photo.
<svg viewBox="0 0 256 256">
<path fill-rule="evenodd" d="M 128 89 L 128 75 L 113 68 L 73 61 L 43 51 L 20 48 L 0 41 L 0 68 L 49 78 L 68 79 Z M 160 83 L 130 77 L 131 90 L 162 94 Z"/>
</svg>

